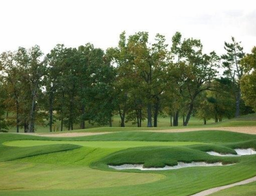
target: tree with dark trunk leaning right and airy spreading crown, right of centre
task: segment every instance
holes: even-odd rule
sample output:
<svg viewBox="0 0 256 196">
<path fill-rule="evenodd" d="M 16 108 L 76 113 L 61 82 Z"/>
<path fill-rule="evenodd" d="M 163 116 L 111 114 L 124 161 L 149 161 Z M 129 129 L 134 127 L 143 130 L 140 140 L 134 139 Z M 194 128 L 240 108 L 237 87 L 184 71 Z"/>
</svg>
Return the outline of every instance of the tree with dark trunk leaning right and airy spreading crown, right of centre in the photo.
<svg viewBox="0 0 256 196">
<path fill-rule="evenodd" d="M 179 39 L 181 37 L 179 36 Z M 176 42 L 179 43 L 179 42 Z M 179 93 L 188 99 L 188 108 L 183 125 L 188 125 L 198 95 L 206 90 L 211 90 L 212 80 L 216 77 L 219 57 L 211 52 L 209 55 L 202 53 L 203 45 L 200 40 L 185 39 L 180 46 L 179 62 L 174 64 L 173 71 L 180 86 Z"/>
</svg>

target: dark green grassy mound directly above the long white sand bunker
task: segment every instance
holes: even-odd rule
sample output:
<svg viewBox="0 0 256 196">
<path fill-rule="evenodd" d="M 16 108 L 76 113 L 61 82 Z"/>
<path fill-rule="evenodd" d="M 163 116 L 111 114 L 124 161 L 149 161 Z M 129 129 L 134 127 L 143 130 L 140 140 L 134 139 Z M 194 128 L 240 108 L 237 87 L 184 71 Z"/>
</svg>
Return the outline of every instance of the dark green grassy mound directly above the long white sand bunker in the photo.
<svg viewBox="0 0 256 196">
<path fill-rule="evenodd" d="M 211 156 L 203 151 L 190 149 L 189 147 L 136 147 L 110 154 L 95 163 L 94 166 L 102 166 L 105 169 L 107 169 L 107 165 L 122 164 L 144 164 L 144 167 L 164 167 L 165 165 L 177 165 L 177 162 L 190 163 L 194 161 L 233 164 L 238 160 L 237 157 Z"/>
</svg>

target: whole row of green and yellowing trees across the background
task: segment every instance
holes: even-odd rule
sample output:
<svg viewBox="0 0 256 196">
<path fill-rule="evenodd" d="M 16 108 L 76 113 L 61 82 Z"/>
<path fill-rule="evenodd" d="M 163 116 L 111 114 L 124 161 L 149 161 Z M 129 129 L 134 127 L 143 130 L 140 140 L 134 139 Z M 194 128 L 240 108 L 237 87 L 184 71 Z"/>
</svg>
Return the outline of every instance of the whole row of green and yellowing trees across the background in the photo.
<svg viewBox="0 0 256 196">
<path fill-rule="evenodd" d="M 246 55 L 235 38 L 224 43 L 226 53 L 203 53 L 200 40 L 147 32 L 120 34 L 116 47 L 106 51 L 91 43 L 77 48 L 56 45 L 44 55 L 38 45 L 0 55 L 0 130 L 34 132 L 35 124 L 55 131 L 73 130 L 86 123 L 109 125 L 120 116 L 120 126 L 142 121 L 157 127 L 169 116 L 215 119 L 252 112 L 255 104 L 255 53 Z M 219 70 L 224 73 L 220 75 Z M 254 82 L 254 83 L 253 83 Z M 246 106 L 245 103 L 249 106 Z M 251 107 L 250 107 L 251 106 Z"/>
</svg>

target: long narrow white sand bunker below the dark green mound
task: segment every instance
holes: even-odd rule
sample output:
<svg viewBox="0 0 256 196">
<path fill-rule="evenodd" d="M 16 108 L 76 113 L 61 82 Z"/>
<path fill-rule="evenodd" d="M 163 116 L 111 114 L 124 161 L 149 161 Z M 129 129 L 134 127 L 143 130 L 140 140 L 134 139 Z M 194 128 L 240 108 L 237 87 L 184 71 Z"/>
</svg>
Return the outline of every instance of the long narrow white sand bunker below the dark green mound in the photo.
<svg viewBox="0 0 256 196">
<path fill-rule="evenodd" d="M 233 165 L 233 164 L 228 164 Z M 222 162 L 216 162 L 213 164 L 209 164 L 207 162 L 191 162 L 191 163 L 185 163 L 185 162 L 178 162 L 177 165 L 169 166 L 165 165 L 164 167 L 144 167 L 143 164 L 123 164 L 123 165 L 109 165 L 112 169 L 139 169 L 142 171 L 150 170 L 150 171 L 161 171 L 161 170 L 170 170 L 170 169 L 181 169 L 185 167 L 212 167 L 212 166 L 226 166 L 222 164 Z"/>
</svg>

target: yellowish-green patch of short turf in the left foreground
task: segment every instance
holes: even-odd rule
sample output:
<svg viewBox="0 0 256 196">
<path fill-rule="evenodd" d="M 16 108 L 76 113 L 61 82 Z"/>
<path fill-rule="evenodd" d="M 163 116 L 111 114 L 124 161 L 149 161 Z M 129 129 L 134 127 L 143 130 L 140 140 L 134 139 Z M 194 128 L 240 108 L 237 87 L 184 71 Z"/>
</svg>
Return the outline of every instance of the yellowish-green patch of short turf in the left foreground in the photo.
<svg viewBox="0 0 256 196">
<path fill-rule="evenodd" d="M 151 173 L 110 173 L 78 165 L 67 167 L 15 161 L 1 162 L 0 176 L 0 190 L 106 188 L 144 184 L 164 178 L 164 175 Z"/>
</svg>

